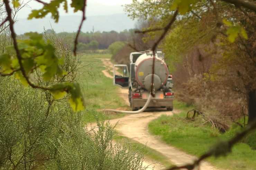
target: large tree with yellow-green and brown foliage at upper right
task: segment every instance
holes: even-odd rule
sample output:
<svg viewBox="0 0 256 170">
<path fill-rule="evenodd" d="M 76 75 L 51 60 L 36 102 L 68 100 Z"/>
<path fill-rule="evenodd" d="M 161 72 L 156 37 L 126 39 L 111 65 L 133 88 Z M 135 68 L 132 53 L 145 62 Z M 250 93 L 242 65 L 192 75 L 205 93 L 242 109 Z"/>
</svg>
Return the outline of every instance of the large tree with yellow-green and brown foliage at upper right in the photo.
<svg viewBox="0 0 256 170">
<path fill-rule="evenodd" d="M 255 6 L 254 1 L 243 0 L 135 0 L 126 11 L 133 18 L 159 18 L 158 24 L 138 32 L 162 34 L 153 49 L 166 37 L 163 47 L 173 61 L 180 61 L 176 56 L 196 44 L 214 42 L 219 57 L 211 69 L 211 80 L 229 82 L 225 86 L 247 99 L 252 122 L 256 117 Z"/>
</svg>

